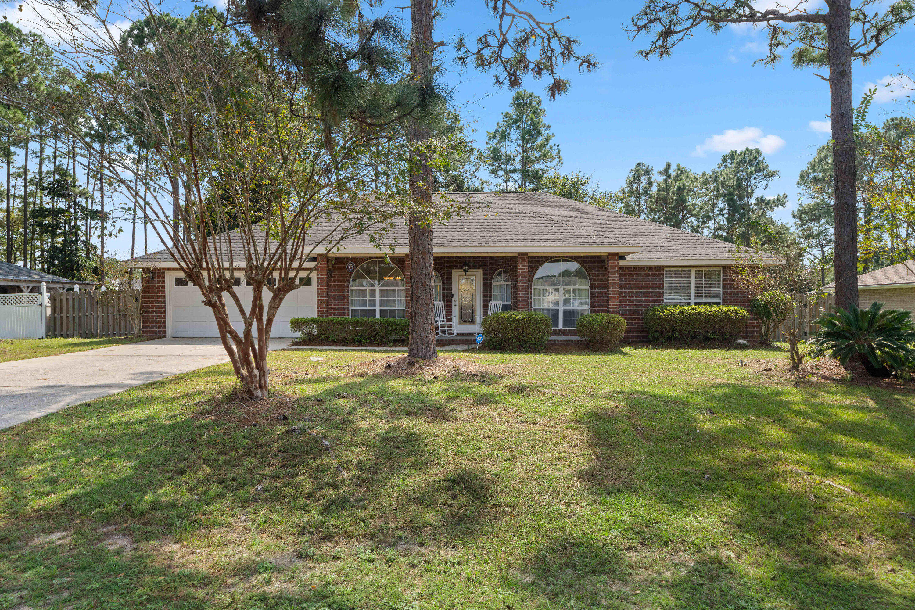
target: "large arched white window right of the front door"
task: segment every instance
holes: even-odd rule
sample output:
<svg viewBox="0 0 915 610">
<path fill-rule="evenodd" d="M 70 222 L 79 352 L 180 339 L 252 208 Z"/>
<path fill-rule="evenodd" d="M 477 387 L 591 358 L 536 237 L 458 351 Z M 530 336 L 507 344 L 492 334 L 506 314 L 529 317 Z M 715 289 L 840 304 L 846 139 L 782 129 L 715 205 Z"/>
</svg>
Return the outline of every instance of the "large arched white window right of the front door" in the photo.
<svg viewBox="0 0 915 610">
<path fill-rule="evenodd" d="M 584 267 L 554 259 L 533 276 L 533 310 L 546 314 L 554 328 L 575 328 L 578 318 L 591 311 L 590 286 Z"/>
</svg>

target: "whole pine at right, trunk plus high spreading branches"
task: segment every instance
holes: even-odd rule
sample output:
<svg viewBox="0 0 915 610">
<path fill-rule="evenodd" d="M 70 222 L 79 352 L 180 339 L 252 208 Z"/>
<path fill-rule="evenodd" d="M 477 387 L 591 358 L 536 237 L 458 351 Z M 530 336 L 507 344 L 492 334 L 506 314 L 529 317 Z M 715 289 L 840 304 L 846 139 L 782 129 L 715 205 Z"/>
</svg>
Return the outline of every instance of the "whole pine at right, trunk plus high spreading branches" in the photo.
<svg viewBox="0 0 915 610">
<path fill-rule="evenodd" d="M 835 302 L 857 305 L 857 209 L 855 114 L 852 63 L 871 59 L 880 47 L 915 16 L 911 0 L 649 0 L 624 27 L 630 37 L 649 37 L 639 51 L 645 59 L 664 58 L 693 37 L 699 27 L 719 32 L 731 24 L 751 24 L 769 32 L 769 53 L 760 59 L 774 65 L 791 50 L 796 68 L 828 67 L 834 171 Z"/>
</svg>

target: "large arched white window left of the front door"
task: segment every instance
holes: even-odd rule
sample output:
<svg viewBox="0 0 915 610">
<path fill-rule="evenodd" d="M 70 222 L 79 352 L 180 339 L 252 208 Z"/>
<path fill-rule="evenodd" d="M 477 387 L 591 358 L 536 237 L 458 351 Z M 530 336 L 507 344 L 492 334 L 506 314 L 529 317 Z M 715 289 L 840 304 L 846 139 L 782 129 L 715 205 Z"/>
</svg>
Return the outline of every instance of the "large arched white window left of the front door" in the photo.
<svg viewBox="0 0 915 610">
<path fill-rule="evenodd" d="M 404 318 L 404 285 L 397 265 L 363 262 L 350 279 L 350 316 Z"/>
</svg>

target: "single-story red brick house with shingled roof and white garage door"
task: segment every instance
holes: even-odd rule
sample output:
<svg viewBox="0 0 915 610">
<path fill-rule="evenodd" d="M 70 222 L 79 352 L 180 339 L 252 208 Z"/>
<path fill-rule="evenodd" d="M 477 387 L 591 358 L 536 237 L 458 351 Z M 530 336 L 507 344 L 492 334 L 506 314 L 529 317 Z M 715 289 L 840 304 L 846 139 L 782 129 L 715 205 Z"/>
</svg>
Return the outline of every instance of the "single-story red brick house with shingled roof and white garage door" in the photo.
<svg viewBox="0 0 915 610">
<path fill-rule="evenodd" d="M 728 273 L 737 262 L 731 243 L 547 193 L 449 197 L 468 197 L 479 206 L 435 227 L 436 301 L 445 303 L 459 333 L 477 332 L 490 300 L 501 301 L 502 310 L 543 312 L 553 320 L 556 338 L 575 338 L 579 316 L 617 313 L 626 318 L 626 340 L 646 338 L 642 316 L 651 305 L 748 307 L 748 295 L 734 288 Z M 408 316 L 406 227 L 392 233 L 389 262 L 368 237 L 350 239 L 340 251 L 316 249 L 318 255 L 302 265 L 313 273 L 286 296 L 274 337 L 295 337 L 289 319 L 296 316 Z M 243 263 L 233 262 L 240 276 Z M 137 257 L 131 266 L 147 270 L 145 336 L 217 334 L 210 308 L 167 251 Z M 244 299 L 244 281 L 236 283 Z M 233 310 L 233 321 L 240 321 Z M 756 337 L 758 329 L 751 322 L 746 336 Z"/>
</svg>

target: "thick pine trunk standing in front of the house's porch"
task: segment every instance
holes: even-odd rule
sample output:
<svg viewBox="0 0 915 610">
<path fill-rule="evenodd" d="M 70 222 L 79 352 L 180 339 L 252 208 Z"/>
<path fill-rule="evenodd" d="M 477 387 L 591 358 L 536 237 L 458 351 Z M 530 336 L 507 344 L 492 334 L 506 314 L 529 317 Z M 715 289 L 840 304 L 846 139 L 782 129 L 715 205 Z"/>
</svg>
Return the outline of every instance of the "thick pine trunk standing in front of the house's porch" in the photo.
<svg viewBox="0 0 915 610">
<path fill-rule="evenodd" d="M 432 40 L 433 0 L 412 0 L 410 18 L 410 72 L 416 80 L 428 80 L 432 76 L 434 55 Z M 429 128 L 414 120 L 410 121 L 407 136 L 411 143 L 425 142 L 430 137 Z M 426 209 L 432 206 L 432 168 L 426 163 L 425 155 L 414 154 L 419 167 L 410 176 L 410 194 L 415 202 Z M 410 340 L 407 354 L 417 359 L 435 359 L 436 323 L 435 314 L 435 273 L 433 271 L 433 235 L 431 219 L 411 215 L 409 222 L 410 239 Z"/>
</svg>

